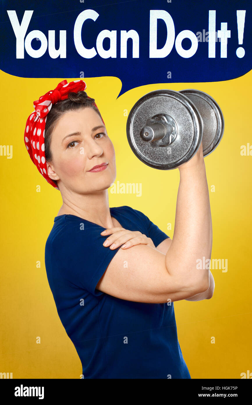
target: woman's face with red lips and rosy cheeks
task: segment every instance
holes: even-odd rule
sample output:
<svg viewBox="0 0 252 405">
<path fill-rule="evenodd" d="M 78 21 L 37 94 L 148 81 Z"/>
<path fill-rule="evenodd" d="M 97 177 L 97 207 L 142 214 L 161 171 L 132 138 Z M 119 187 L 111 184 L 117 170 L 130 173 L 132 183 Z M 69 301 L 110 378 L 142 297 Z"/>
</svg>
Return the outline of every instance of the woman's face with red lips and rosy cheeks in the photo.
<svg viewBox="0 0 252 405">
<path fill-rule="evenodd" d="M 47 173 L 60 190 L 61 185 L 80 193 L 106 190 L 116 178 L 114 146 L 92 108 L 61 116 L 51 134 L 51 152 L 53 161 L 47 162 Z M 105 170 L 90 172 L 102 163 L 107 163 Z"/>
</svg>

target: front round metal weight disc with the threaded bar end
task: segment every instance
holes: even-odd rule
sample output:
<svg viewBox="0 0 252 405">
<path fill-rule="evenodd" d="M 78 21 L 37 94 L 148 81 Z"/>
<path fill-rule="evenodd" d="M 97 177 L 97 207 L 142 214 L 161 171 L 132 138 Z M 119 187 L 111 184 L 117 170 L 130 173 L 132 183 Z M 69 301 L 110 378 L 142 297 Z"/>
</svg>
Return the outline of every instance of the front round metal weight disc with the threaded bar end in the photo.
<svg viewBox="0 0 252 405">
<path fill-rule="evenodd" d="M 140 136 L 147 120 L 160 115 L 166 115 L 176 131 L 168 146 L 153 146 L 155 142 L 144 141 Z M 149 92 L 136 102 L 129 113 L 126 130 L 129 145 L 138 159 L 150 167 L 170 170 L 195 154 L 202 140 L 203 123 L 189 98 L 180 92 L 162 89 Z"/>
</svg>

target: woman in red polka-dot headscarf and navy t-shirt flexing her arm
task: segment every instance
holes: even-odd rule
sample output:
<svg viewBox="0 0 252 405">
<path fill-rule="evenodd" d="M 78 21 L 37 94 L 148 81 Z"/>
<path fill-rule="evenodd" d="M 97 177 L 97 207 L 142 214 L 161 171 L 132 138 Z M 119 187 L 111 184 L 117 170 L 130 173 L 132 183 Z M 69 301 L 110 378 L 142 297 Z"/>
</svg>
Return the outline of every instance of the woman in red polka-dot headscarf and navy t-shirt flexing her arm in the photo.
<svg viewBox="0 0 252 405">
<path fill-rule="evenodd" d="M 85 89 L 62 81 L 34 102 L 25 128 L 30 157 L 63 201 L 45 246 L 59 318 L 83 378 L 191 378 L 173 302 L 214 290 L 209 269 L 196 269 L 212 249 L 202 144 L 179 167 L 172 241 L 144 213 L 109 207 L 114 147 Z"/>
</svg>

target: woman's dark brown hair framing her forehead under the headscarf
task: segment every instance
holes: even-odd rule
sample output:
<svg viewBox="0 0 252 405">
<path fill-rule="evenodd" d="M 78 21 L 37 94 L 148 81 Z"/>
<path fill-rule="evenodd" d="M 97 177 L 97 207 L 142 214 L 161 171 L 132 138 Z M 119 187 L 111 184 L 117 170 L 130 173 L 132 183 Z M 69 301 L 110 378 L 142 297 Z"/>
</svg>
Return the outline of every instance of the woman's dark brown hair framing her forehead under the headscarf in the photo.
<svg viewBox="0 0 252 405">
<path fill-rule="evenodd" d="M 50 146 L 51 135 L 57 122 L 59 121 L 59 118 L 67 111 L 74 111 L 85 107 L 92 108 L 102 118 L 100 111 L 93 104 L 94 102 L 94 98 L 88 97 L 87 93 L 81 90 L 78 93 L 70 92 L 68 94 L 68 98 L 52 105 L 51 110 L 47 114 L 47 120 L 44 129 L 44 154 L 47 162 L 52 162 L 53 159 Z M 57 181 L 53 180 L 53 182 L 57 185 Z"/>
</svg>

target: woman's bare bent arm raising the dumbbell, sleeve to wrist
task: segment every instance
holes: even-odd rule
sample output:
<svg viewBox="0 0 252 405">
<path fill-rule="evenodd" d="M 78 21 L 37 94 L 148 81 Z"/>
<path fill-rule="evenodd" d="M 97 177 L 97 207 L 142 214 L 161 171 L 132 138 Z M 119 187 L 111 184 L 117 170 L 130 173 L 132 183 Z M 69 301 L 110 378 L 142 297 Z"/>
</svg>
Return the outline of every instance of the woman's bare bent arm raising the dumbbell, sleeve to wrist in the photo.
<svg viewBox="0 0 252 405">
<path fill-rule="evenodd" d="M 202 143 L 179 167 L 174 237 L 166 255 L 146 245 L 119 249 L 97 289 L 145 303 L 179 301 L 208 290 L 209 269 L 197 269 L 212 251 L 212 220 Z"/>
</svg>

